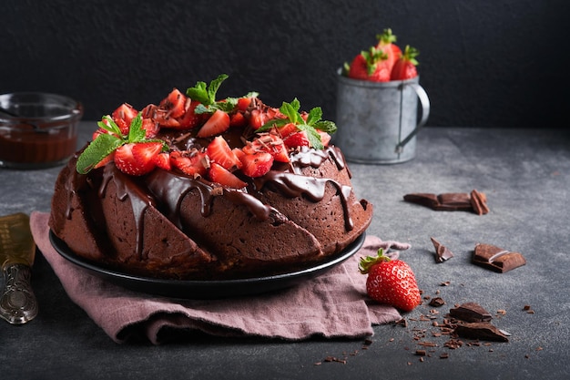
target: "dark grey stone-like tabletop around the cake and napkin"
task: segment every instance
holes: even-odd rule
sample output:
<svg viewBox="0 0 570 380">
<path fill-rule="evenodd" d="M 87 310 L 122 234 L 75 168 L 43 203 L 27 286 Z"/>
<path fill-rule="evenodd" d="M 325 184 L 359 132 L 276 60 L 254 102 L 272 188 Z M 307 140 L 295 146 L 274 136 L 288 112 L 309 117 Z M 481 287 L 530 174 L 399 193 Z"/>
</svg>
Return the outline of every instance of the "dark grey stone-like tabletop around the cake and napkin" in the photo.
<svg viewBox="0 0 570 380">
<path fill-rule="evenodd" d="M 80 141 L 95 128 L 82 122 Z M 397 165 L 351 164 L 357 195 L 372 201 L 368 231 L 407 241 L 402 259 L 414 270 L 424 302 L 403 314 L 407 325 L 374 327 L 364 339 L 313 338 L 284 342 L 180 334 L 168 344 L 116 344 L 70 301 L 41 254 L 33 285 L 40 312 L 28 324 L 0 321 L 3 379 L 140 378 L 449 378 L 561 379 L 570 373 L 570 132 L 555 129 L 424 128 L 417 156 Z M 0 169 L 0 214 L 49 211 L 61 168 Z M 404 202 L 411 192 L 487 195 L 491 211 L 432 211 Z M 434 237 L 453 259 L 436 264 Z M 524 267 L 496 273 L 471 263 L 473 247 L 486 242 L 522 252 Z M 2 280 L 0 280 L 1 282 Z M 453 304 L 474 302 L 511 334 L 508 343 L 433 336 Z M 524 306 L 531 310 L 524 310 Z M 422 342 L 436 344 L 434 347 Z M 415 355 L 424 349 L 424 357 Z M 442 354 L 448 354 L 442 358 Z M 334 357 L 338 361 L 325 361 Z"/>
</svg>

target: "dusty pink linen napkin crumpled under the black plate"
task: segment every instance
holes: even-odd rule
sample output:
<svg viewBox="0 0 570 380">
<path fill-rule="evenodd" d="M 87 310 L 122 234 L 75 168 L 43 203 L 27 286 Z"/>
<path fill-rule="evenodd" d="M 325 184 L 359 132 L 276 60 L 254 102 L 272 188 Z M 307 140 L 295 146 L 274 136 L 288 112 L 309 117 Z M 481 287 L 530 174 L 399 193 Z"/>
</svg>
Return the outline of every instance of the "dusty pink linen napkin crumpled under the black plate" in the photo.
<svg viewBox="0 0 570 380">
<path fill-rule="evenodd" d="M 358 272 L 358 260 L 380 247 L 406 250 L 407 243 L 367 236 L 361 250 L 346 262 L 289 289 L 220 300 L 183 300 L 133 292 L 67 262 L 49 241 L 48 218 L 42 212 L 31 215 L 37 247 L 69 298 L 117 343 L 146 336 L 159 344 L 162 333 L 171 329 L 291 341 L 310 336 L 357 338 L 372 335 L 374 324 L 401 318 L 393 307 L 366 297 L 366 276 Z M 389 252 L 392 257 L 398 253 Z"/>
</svg>

